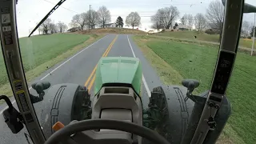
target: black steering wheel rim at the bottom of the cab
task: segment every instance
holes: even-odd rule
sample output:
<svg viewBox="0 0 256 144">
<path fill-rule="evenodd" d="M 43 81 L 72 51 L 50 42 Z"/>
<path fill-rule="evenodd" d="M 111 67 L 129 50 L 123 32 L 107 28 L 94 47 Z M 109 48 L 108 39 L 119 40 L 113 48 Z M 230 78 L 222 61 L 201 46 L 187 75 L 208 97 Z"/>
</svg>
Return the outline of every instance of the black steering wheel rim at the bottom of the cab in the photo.
<svg viewBox="0 0 256 144">
<path fill-rule="evenodd" d="M 170 144 L 166 138 L 163 138 L 154 130 L 150 130 L 144 126 L 138 126 L 132 122 L 110 120 L 110 119 L 90 119 L 75 122 L 68 126 L 65 126 L 61 130 L 56 131 L 50 136 L 45 144 L 56 144 L 61 142 L 63 138 L 70 138 L 71 134 L 76 134 L 86 130 L 98 130 L 98 129 L 109 129 L 109 130 L 122 130 L 131 134 L 136 134 L 143 138 L 147 138 L 151 142 L 158 144 Z"/>
</svg>

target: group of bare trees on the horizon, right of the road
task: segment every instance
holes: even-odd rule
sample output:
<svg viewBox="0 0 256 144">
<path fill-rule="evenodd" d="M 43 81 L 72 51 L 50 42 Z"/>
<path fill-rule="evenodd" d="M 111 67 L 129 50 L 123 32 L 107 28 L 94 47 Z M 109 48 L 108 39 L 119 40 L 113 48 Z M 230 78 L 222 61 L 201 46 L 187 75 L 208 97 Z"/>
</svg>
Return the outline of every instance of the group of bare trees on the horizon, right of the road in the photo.
<svg viewBox="0 0 256 144">
<path fill-rule="evenodd" d="M 170 29 L 174 22 L 179 18 L 179 11 L 176 6 L 165 7 L 159 9 L 156 14 L 151 17 L 153 23 L 152 28 L 156 30 Z M 224 6 L 219 1 L 210 2 L 206 10 L 206 14 L 198 13 L 196 15 L 184 14 L 180 21 L 188 30 L 192 30 L 193 26 L 196 30 L 202 31 L 209 26 L 212 30 L 220 33 L 224 20 Z"/>
</svg>

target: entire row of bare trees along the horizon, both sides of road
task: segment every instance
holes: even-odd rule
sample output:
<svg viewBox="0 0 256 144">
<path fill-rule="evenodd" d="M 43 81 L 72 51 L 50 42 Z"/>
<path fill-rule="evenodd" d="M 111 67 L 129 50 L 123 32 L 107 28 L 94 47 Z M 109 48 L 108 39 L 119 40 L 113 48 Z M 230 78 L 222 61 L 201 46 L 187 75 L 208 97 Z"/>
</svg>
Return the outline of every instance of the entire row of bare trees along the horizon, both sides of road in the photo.
<svg viewBox="0 0 256 144">
<path fill-rule="evenodd" d="M 215 0 L 210 2 L 206 9 L 206 14 L 198 13 L 194 16 L 192 14 L 184 14 L 182 18 L 176 6 L 169 6 L 158 9 L 156 14 L 150 17 L 152 28 L 156 30 L 177 28 L 177 20 L 182 22 L 188 30 L 196 29 L 198 31 L 206 30 L 208 34 L 222 35 L 222 26 L 224 21 L 224 6 L 222 2 Z M 102 28 L 111 22 L 110 10 L 106 6 L 100 6 L 98 10 L 87 10 L 81 14 L 75 14 L 69 24 L 70 27 L 78 27 L 80 30 L 94 29 L 95 26 Z M 123 27 L 124 21 L 121 16 L 118 16 L 114 22 L 116 27 Z M 138 12 L 131 12 L 126 16 L 126 26 L 138 27 L 141 25 L 141 17 Z M 54 23 L 50 18 L 39 27 L 39 32 L 42 34 L 62 33 L 67 30 L 64 22 Z M 249 22 L 242 23 L 242 34 L 245 36 L 251 35 L 253 27 Z"/>
</svg>

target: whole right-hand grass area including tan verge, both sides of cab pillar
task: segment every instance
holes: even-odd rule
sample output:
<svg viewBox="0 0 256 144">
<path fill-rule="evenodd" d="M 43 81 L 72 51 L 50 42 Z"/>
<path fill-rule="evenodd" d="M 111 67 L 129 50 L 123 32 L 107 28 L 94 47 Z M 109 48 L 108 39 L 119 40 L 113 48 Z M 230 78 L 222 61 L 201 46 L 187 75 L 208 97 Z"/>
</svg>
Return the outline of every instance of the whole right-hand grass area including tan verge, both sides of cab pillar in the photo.
<svg viewBox="0 0 256 144">
<path fill-rule="evenodd" d="M 166 84 L 180 85 L 183 78 L 195 78 L 201 82 L 196 93 L 210 88 L 218 46 L 202 46 L 146 36 L 134 36 L 134 40 Z M 226 93 L 232 105 L 232 114 L 219 143 L 256 142 L 255 71 L 256 57 L 238 52 Z"/>
</svg>

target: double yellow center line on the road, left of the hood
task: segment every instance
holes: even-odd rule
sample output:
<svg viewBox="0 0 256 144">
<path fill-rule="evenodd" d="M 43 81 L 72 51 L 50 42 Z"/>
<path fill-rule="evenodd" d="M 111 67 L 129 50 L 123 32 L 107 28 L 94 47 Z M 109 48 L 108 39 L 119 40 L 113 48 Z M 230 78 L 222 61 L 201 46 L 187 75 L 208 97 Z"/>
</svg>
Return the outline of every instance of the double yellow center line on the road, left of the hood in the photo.
<svg viewBox="0 0 256 144">
<path fill-rule="evenodd" d="M 106 51 L 104 52 L 104 54 L 102 54 L 102 57 L 106 57 L 107 54 L 109 54 L 110 49 L 112 48 L 112 46 L 114 45 L 114 42 L 117 40 L 118 35 L 114 38 L 114 40 L 110 43 L 110 46 L 108 46 L 108 48 L 106 49 Z M 88 83 L 90 82 L 89 86 L 87 87 L 87 89 L 90 91 L 91 87 L 94 84 L 96 75 L 95 75 L 95 71 L 96 71 L 97 65 L 94 67 L 94 70 L 91 72 L 89 78 L 86 80 L 86 83 L 84 86 L 88 86 Z M 93 78 L 92 78 L 93 77 Z M 92 78 L 92 79 L 91 79 Z M 91 81 L 90 81 L 91 79 Z"/>
</svg>

